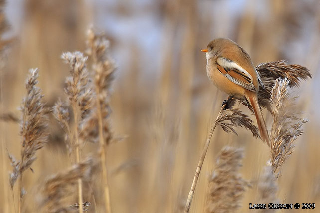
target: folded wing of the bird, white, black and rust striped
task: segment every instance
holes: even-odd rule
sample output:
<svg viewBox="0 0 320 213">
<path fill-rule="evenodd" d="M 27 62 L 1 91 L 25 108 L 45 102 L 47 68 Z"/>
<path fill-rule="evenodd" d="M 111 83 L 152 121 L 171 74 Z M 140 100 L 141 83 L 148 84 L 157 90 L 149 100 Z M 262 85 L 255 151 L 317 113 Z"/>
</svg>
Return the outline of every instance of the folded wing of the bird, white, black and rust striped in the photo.
<svg viewBox="0 0 320 213">
<path fill-rule="evenodd" d="M 227 77 L 233 83 L 240 85 L 247 90 L 253 92 L 257 91 L 257 88 L 253 85 L 252 76 L 248 71 L 234 61 L 224 57 L 219 57 L 217 58 L 217 68 L 222 75 Z"/>
</svg>

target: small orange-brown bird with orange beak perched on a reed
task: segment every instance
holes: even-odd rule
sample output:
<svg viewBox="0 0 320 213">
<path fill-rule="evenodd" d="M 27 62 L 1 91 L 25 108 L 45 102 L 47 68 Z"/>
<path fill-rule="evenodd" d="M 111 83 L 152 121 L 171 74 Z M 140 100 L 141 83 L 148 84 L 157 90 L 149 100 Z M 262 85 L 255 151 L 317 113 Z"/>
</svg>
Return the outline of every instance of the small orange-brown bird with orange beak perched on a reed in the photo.
<svg viewBox="0 0 320 213">
<path fill-rule="evenodd" d="M 264 85 L 249 54 L 227 38 L 214 39 L 201 51 L 206 53 L 209 79 L 219 90 L 230 95 L 228 100 L 247 100 L 254 111 L 261 139 L 270 146 L 266 122 L 257 97 L 259 85 Z"/>
</svg>

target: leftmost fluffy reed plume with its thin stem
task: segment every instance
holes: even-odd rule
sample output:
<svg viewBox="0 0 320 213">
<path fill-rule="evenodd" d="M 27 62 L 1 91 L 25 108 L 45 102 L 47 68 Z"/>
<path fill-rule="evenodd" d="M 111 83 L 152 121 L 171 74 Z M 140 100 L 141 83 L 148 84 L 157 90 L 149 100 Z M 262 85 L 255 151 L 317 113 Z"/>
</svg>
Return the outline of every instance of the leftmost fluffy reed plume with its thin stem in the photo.
<svg viewBox="0 0 320 213">
<path fill-rule="evenodd" d="M 22 187 L 23 172 L 29 168 L 32 170 L 31 164 L 36 160 L 36 151 L 41 149 L 47 142 L 47 113 L 49 110 L 44 106 L 42 101 L 43 95 L 41 94 L 41 89 L 35 86 L 38 83 L 38 77 L 38 70 L 30 69 L 30 75 L 26 82 L 27 94 L 21 105 L 21 160 L 16 161 L 9 154 L 13 166 L 13 172 L 10 173 L 9 178 L 12 190 L 19 178 L 19 213 L 22 211 L 22 198 L 25 194 L 25 190 Z"/>
</svg>

